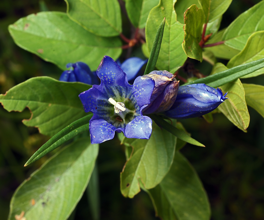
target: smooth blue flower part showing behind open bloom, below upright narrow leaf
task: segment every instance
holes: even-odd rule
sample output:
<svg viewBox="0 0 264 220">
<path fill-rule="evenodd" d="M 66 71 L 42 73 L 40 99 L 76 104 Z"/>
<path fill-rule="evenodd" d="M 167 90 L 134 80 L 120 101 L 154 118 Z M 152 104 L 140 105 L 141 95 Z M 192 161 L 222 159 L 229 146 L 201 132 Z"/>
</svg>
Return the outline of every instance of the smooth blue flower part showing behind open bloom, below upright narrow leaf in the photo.
<svg viewBox="0 0 264 220">
<path fill-rule="evenodd" d="M 128 82 L 133 83 L 133 80 L 140 74 L 140 69 L 144 64 L 148 62 L 148 59 L 142 60 L 139 57 L 131 57 L 126 59 L 122 64 L 119 60 L 116 61 L 117 65 L 123 70 L 128 77 Z"/>
</svg>

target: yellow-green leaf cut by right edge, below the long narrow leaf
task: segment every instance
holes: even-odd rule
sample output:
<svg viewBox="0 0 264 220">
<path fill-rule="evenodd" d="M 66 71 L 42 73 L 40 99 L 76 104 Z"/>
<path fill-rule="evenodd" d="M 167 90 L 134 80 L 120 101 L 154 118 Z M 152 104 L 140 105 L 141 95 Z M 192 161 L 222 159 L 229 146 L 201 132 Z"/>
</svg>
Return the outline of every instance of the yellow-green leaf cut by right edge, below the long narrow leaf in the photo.
<svg viewBox="0 0 264 220">
<path fill-rule="evenodd" d="M 247 104 L 264 118 L 264 86 L 243 83 Z"/>
</svg>

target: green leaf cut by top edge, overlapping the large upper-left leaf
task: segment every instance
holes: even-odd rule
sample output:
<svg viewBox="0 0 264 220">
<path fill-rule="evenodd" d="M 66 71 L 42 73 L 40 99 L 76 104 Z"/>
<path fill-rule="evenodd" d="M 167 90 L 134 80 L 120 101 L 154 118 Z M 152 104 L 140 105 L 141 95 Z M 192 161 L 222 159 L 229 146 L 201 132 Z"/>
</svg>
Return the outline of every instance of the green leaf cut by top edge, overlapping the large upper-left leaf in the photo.
<svg viewBox="0 0 264 220">
<path fill-rule="evenodd" d="M 122 32 L 121 9 L 117 0 L 65 0 L 67 15 L 88 31 L 102 37 Z"/>
</svg>

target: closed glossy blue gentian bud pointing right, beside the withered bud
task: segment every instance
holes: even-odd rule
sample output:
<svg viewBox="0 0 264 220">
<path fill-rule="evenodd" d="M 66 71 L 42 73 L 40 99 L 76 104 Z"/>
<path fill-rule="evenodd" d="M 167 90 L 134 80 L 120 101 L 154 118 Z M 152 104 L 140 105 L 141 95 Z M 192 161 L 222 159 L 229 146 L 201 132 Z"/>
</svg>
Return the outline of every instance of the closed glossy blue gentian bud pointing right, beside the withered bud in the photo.
<svg viewBox="0 0 264 220">
<path fill-rule="evenodd" d="M 162 114 L 177 119 L 202 116 L 216 109 L 226 95 L 204 83 L 180 86 L 174 104 Z"/>
</svg>

